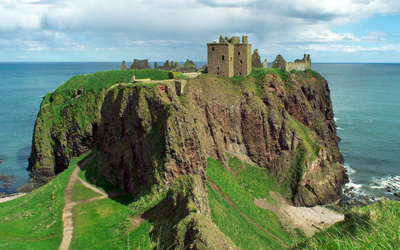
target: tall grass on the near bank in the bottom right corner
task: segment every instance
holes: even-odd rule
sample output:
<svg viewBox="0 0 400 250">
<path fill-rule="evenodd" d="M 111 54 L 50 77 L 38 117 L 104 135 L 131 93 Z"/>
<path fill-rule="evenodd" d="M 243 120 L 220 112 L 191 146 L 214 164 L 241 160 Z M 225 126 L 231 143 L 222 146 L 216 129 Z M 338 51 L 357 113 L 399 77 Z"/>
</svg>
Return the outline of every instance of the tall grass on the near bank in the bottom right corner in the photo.
<svg viewBox="0 0 400 250">
<path fill-rule="evenodd" d="M 345 221 L 294 249 L 399 249 L 399 225 L 400 203 L 382 200 L 350 210 Z"/>
</svg>

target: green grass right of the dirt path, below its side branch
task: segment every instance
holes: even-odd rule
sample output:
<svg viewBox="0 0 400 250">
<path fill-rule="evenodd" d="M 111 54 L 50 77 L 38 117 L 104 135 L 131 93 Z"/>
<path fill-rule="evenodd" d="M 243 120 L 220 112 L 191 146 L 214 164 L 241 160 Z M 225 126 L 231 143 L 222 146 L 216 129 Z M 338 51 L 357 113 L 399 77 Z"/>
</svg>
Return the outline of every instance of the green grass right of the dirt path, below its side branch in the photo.
<svg viewBox="0 0 400 250">
<path fill-rule="evenodd" d="M 146 221 L 129 233 L 131 210 L 112 199 L 79 204 L 73 208 L 71 249 L 151 249 L 152 223 Z"/>
</svg>

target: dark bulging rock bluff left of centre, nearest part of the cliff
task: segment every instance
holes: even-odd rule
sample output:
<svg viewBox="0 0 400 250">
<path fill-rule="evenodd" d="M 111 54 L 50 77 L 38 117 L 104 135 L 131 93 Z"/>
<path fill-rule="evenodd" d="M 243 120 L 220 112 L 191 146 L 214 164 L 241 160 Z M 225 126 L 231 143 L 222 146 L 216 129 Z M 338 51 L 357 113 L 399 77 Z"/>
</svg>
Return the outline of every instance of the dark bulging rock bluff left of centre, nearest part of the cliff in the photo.
<svg viewBox="0 0 400 250">
<path fill-rule="evenodd" d="M 205 180 L 206 155 L 197 125 L 178 103 L 169 85 L 110 90 L 99 129 L 103 175 L 132 193 L 153 184 L 165 188 L 182 175 Z"/>
</svg>

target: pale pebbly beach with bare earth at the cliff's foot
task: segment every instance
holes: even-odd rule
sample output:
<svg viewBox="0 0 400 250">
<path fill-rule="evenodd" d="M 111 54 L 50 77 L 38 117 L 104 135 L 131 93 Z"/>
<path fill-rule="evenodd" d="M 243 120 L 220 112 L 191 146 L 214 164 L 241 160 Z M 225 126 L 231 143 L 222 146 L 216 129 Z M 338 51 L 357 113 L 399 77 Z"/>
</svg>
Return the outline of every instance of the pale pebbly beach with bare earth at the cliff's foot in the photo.
<svg viewBox="0 0 400 250">
<path fill-rule="evenodd" d="M 326 207 L 295 207 L 289 204 L 279 193 L 270 191 L 270 196 L 276 201 L 276 205 L 268 203 L 264 199 L 256 199 L 254 204 L 274 212 L 284 227 L 300 228 L 308 237 L 344 219 L 343 214 Z"/>
</svg>

